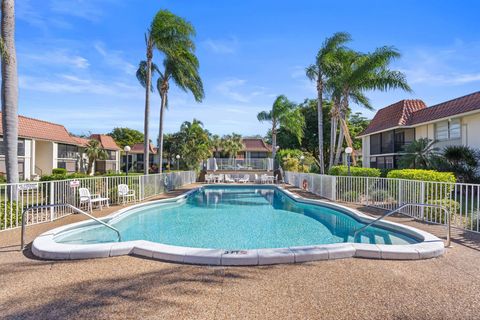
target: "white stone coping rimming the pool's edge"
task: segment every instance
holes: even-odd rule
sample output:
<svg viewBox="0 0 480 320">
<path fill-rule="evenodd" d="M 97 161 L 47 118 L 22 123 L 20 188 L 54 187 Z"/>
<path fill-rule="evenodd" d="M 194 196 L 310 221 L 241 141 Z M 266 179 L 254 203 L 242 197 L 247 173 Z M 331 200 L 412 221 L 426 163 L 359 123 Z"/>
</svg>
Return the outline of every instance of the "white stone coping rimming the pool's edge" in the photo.
<svg viewBox="0 0 480 320">
<path fill-rule="evenodd" d="M 219 185 L 222 184 L 215 184 L 215 186 Z M 232 185 L 230 184 L 228 186 Z M 266 185 L 259 184 L 248 186 L 265 187 Z M 297 202 L 322 205 L 328 208 L 340 210 L 363 223 L 368 223 L 375 220 L 375 218 L 341 204 L 332 203 L 325 200 L 307 199 L 294 194 L 279 185 L 268 186 L 281 190 L 287 196 Z M 159 203 L 181 203 L 185 201 L 190 194 L 204 187 L 205 186 L 194 188 L 177 197 L 129 206 L 120 209 L 106 217 L 100 218 L 100 220 L 108 223 L 110 220 L 122 215 L 127 211 L 144 206 L 151 206 Z M 97 244 L 64 244 L 55 242 L 54 240 L 55 236 L 61 232 L 72 230 L 80 226 L 94 224 L 96 224 L 96 222 L 91 220 L 81 221 L 42 233 L 33 241 L 32 252 L 39 258 L 50 260 L 75 260 L 134 255 L 186 264 L 253 266 L 280 263 L 300 263 L 350 257 L 387 260 L 418 260 L 438 257 L 441 256 L 445 251 L 443 241 L 434 235 L 414 227 L 385 220 L 379 221 L 378 226 L 413 237 L 417 239 L 419 243 L 406 245 L 385 245 L 344 242 L 288 248 L 222 250 L 180 247 L 146 240 Z"/>
</svg>

